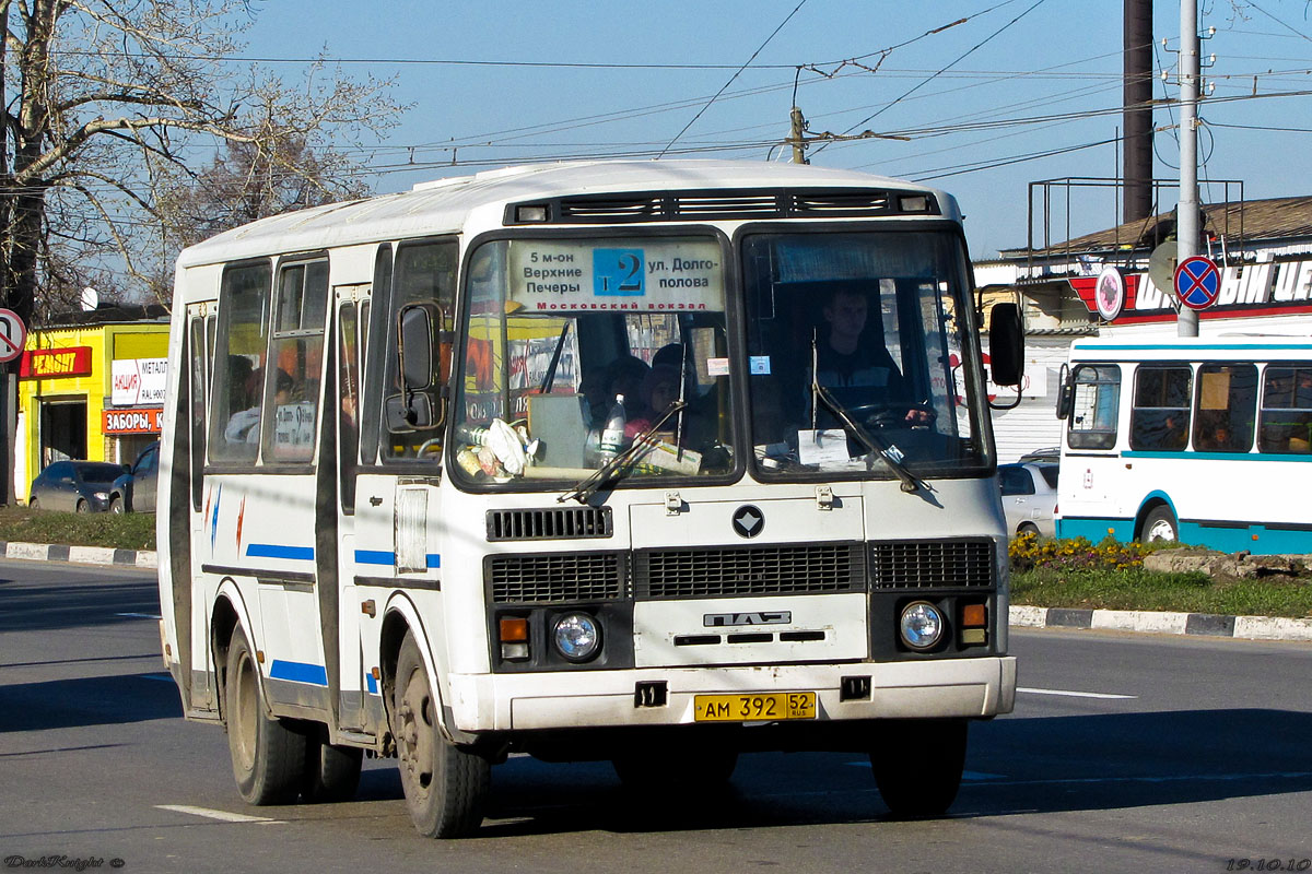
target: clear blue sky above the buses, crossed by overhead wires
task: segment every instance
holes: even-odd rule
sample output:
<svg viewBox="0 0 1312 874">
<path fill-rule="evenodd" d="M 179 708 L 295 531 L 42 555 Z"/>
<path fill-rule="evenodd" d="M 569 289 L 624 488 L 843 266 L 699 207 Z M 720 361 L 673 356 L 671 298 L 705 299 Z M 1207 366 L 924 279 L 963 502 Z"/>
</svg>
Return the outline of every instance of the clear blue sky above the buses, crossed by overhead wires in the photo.
<svg viewBox="0 0 1312 874">
<path fill-rule="evenodd" d="M 377 191 L 559 156 L 666 149 L 673 159 L 698 149 L 778 159 L 771 144 L 787 136 L 795 86 L 812 132 L 908 138 L 813 147 L 812 162 L 951 191 L 975 258 L 1025 245 L 1031 181 L 1118 169 L 1109 142 L 1122 123 L 1118 0 L 265 0 L 256 8 L 247 56 L 295 62 L 325 51 L 350 73 L 396 77 L 394 96 L 413 107 L 371 156 L 382 170 L 370 178 Z M 1305 0 L 1203 4 L 1202 28 L 1216 28 L 1203 54 L 1218 58 L 1204 73 L 1216 90 L 1200 110 L 1200 180 L 1241 180 L 1248 199 L 1312 193 L 1312 96 L 1271 96 L 1312 94 L 1309 9 Z M 1178 37 L 1178 3 L 1156 0 L 1157 64 L 1172 73 Z M 304 69 L 274 68 L 291 83 Z M 1155 96 L 1168 94 L 1177 86 L 1158 80 Z M 1158 127 L 1176 121 L 1173 110 L 1156 113 Z M 1156 143 L 1157 178 L 1177 180 L 1174 130 Z M 1164 197 L 1169 208 L 1174 191 Z M 1224 198 L 1218 185 L 1202 190 L 1204 202 Z M 1057 207 L 1061 238 L 1065 204 Z M 1075 195 L 1071 207 L 1072 235 L 1117 220 L 1105 195 Z"/>
</svg>

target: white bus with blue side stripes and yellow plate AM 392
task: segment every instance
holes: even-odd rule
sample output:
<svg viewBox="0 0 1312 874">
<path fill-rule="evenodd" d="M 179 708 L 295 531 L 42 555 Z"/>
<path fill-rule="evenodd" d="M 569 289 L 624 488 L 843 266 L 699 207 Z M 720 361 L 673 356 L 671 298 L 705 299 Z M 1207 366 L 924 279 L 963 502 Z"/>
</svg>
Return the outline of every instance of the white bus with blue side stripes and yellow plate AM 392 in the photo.
<svg viewBox="0 0 1312 874">
<path fill-rule="evenodd" d="M 512 753 L 695 790 L 740 751 L 861 751 L 892 810 L 942 812 L 1015 692 L 970 276 L 941 191 L 727 161 L 512 168 L 186 249 L 186 717 L 256 805 L 396 756 L 429 836 L 478 828 Z M 825 385 L 853 330 L 865 387 Z"/>
</svg>

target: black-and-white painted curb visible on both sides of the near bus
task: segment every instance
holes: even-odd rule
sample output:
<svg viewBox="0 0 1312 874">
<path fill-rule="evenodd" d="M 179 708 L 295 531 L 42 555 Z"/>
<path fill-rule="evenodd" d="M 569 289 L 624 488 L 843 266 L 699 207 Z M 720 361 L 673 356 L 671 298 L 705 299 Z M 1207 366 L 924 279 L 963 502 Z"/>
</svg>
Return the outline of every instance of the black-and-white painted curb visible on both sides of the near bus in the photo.
<svg viewBox="0 0 1312 874">
<path fill-rule="evenodd" d="M 68 561 L 115 567 L 159 566 L 150 549 L 108 546 L 60 546 L 52 544 L 0 542 L 0 558 Z M 1155 613 L 1148 611 L 1071 609 L 1065 607 L 1010 608 L 1012 628 L 1099 629 L 1145 634 L 1187 634 L 1253 641 L 1312 641 L 1312 618 L 1278 616 L 1214 616 L 1211 613 Z"/>
</svg>

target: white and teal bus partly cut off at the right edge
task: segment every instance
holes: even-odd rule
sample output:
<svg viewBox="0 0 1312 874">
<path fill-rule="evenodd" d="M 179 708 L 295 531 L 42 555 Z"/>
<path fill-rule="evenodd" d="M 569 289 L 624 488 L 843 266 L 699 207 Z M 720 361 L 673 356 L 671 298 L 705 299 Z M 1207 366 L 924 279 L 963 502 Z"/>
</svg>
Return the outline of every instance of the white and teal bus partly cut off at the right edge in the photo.
<svg viewBox="0 0 1312 874">
<path fill-rule="evenodd" d="M 1312 552 L 1312 341 L 1076 341 L 1057 536 Z"/>
</svg>

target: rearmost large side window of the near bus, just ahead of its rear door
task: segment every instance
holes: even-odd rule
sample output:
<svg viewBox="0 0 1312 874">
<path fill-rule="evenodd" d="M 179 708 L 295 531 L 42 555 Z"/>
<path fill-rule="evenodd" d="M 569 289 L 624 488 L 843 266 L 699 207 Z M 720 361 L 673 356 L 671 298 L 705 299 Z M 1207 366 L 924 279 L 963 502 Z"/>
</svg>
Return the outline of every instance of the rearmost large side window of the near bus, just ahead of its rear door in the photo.
<svg viewBox="0 0 1312 874">
<path fill-rule="evenodd" d="M 258 449 L 272 279 L 268 263 L 223 274 L 210 402 L 209 451 L 215 463 L 253 461 Z"/>
</svg>

